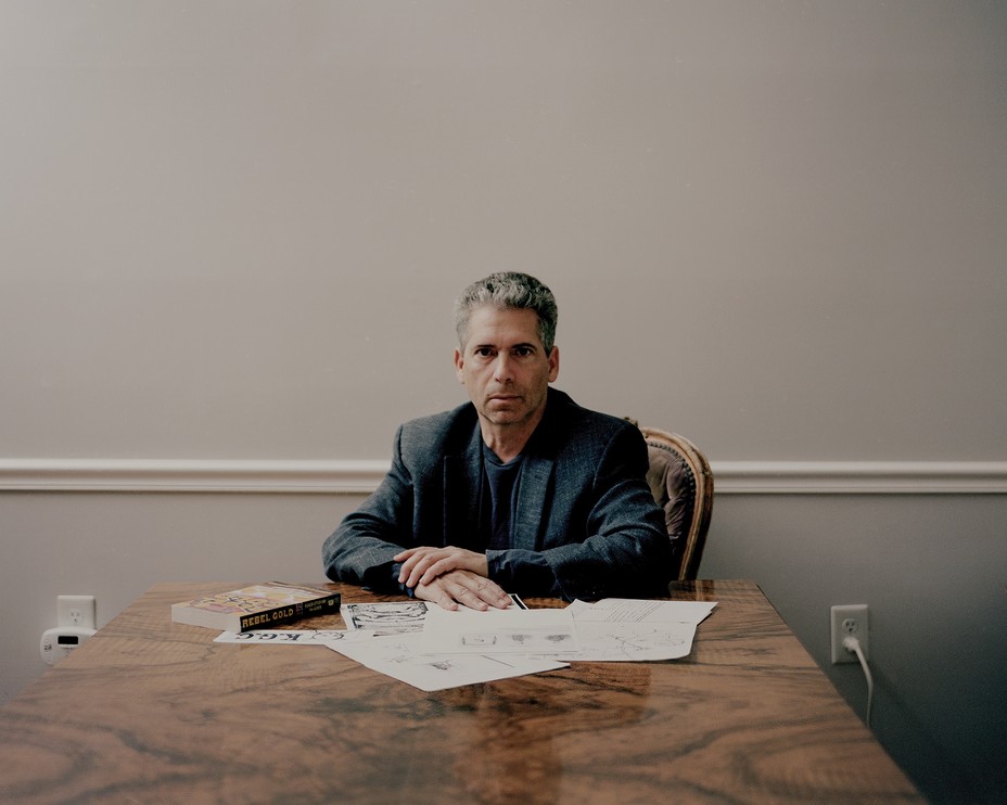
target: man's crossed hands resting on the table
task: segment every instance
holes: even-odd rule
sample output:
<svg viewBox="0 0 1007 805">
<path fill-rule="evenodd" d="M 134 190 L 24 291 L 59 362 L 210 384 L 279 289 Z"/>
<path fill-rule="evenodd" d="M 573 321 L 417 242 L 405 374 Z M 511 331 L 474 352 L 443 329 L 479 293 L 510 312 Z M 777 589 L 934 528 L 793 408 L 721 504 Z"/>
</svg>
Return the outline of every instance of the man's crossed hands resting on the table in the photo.
<svg viewBox="0 0 1007 805">
<path fill-rule="evenodd" d="M 464 548 L 409 548 L 395 555 L 403 563 L 398 583 L 412 589 L 417 598 L 445 610 L 462 604 L 473 610 L 506 609 L 510 597 L 489 580 L 489 566 L 483 553 Z"/>
</svg>

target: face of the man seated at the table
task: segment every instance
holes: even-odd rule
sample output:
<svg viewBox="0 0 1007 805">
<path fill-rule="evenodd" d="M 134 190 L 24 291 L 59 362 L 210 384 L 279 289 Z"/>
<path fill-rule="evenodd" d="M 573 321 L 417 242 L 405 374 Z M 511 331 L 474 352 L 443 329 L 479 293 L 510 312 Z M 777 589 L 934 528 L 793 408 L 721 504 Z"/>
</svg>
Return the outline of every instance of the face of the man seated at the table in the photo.
<svg viewBox="0 0 1007 805">
<path fill-rule="evenodd" d="M 480 307 L 469 319 L 464 352 L 455 350 L 455 371 L 482 419 L 537 424 L 559 360 L 555 346 L 546 353 L 534 310 Z"/>
</svg>

